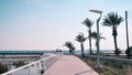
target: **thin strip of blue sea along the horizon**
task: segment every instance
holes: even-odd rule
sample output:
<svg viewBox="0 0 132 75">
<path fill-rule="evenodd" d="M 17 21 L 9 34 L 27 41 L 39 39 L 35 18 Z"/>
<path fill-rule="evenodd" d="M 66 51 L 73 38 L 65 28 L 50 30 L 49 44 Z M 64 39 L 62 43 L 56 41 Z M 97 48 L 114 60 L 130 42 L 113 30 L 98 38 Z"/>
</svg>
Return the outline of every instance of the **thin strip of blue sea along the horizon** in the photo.
<svg viewBox="0 0 132 75">
<path fill-rule="evenodd" d="M 36 54 L 36 53 L 54 53 L 55 50 L 0 50 L 0 54 Z M 84 51 L 86 54 L 89 53 L 89 50 Z M 92 50 L 94 53 L 97 53 L 96 50 Z M 101 53 L 114 53 L 114 50 L 101 50 Z M 62 50 L 62 53 L 69 53 L 68 50 Z M 80 50 L 75 50 L 75 54 L 80 54 Z M 122 51 L 122 53 L 125 53 L 125 51 Z"/>
</svg>

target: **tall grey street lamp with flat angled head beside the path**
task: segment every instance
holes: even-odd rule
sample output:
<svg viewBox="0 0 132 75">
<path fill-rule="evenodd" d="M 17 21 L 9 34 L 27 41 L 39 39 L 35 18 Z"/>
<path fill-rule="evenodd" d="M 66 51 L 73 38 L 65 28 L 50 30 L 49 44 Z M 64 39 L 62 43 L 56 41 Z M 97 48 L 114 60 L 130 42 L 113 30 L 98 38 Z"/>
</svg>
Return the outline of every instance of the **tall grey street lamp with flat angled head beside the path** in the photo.
<svg viewBox="0 0 132 75">
<path fill-rule="evenodd" d="M 96 68 L 101 68 L 100 65 L 100 44 L 99 44 L 99 21 L 101 19 L 102 11 L 100 10 L 89 10 L 90 12 L 98 13 L 100 17 L 97 19 L 97 66 Z"/>
</svg>

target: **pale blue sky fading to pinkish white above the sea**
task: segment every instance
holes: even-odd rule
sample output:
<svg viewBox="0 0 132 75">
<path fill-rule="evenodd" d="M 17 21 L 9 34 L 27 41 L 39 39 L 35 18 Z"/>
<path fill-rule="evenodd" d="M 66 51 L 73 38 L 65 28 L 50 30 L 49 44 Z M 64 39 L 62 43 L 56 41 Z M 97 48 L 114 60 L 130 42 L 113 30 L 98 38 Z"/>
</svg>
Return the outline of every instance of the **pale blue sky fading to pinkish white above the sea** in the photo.
<svg viewBox="0 0 132 75">
<path fill-rule="evenodd" d="M 118 12 L 124 18 L 129 12 L 129 39 L 132 45 L 132 0 L 0 0 L 0 50 L 67 50 L 66 41 L 80 44 L 75 38 L 82 32 L 88 36 L 88 28 L 81 22 L 88 18 L 95 24 L 99 14 L 89 10 L 101 10 L 100 33 L 106 40 L 100 41 L 101 50 L 113 50 L 111 28 L 101 24 L 109 12 Z M 88 40 L 84 43 L 89 49 Z M 125 22 L 118 26 L 118 46 L 127 49 Z M 96 50 L 95 40 L 92 49 Z"/>
</svg>

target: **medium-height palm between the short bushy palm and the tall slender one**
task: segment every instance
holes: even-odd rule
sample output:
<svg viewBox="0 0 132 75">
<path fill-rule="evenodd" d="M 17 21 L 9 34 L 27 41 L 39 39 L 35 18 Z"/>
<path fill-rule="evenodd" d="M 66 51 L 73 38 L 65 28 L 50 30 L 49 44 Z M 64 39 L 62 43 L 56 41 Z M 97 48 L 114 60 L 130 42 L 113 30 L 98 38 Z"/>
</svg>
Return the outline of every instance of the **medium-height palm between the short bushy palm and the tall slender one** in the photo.
<svg viewBox="0 0 132 75">
<path fill-rule="evenodd" d="M 80 47 L 81 47 L 81 56 L 85 57 L 85 53 L 84 53 L 84 42 L 86 41 L 87 38 L 84 36 L 84 33 L 79 34 L 76 36 L 76 41 L 80 43 Z"/>
</svg>

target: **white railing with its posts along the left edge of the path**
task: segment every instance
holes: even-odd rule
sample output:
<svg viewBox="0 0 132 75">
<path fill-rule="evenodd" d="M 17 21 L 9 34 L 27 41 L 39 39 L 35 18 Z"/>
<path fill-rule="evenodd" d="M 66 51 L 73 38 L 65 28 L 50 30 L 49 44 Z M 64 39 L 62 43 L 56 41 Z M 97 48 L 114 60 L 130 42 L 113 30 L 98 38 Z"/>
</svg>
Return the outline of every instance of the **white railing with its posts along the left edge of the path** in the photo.
<svg viewBox="0 0 132 75">
<path fill-rule="evenodd" d="M 51 65 L 58 60 L 58 57 L 61 57 L 59 54 L 54 54 L 1 75 L 43 75 L 44 72 L 47 71 L 48 67 L 51 67 Z M 19 71 L 21 71 L 21 74 L 16 73 Z"/>
</svg>

